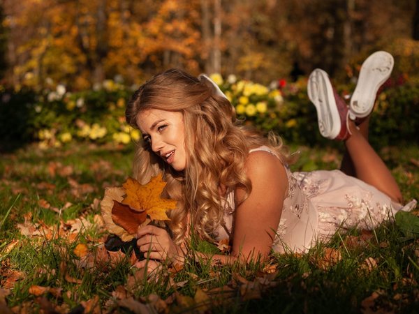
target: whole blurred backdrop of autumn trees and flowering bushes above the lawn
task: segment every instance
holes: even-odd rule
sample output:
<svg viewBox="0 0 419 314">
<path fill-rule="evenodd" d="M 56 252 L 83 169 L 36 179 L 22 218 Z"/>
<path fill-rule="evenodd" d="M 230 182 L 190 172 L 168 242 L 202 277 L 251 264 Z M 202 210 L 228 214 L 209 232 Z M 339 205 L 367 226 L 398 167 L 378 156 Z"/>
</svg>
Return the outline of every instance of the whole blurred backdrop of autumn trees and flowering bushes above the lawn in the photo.
<svg viewBox="0 0 419 314">
<path fill-rule="evenodd" d="M 2 0 L 0 151 L 128 144 L 133 90 L 172 67 L 212 74 L 245 123 L 322 144 L 307 75 L 350 97 L 362 61 L 395 57 L 372 140 L 418 143 L 419 0 Z"/>
</svg>

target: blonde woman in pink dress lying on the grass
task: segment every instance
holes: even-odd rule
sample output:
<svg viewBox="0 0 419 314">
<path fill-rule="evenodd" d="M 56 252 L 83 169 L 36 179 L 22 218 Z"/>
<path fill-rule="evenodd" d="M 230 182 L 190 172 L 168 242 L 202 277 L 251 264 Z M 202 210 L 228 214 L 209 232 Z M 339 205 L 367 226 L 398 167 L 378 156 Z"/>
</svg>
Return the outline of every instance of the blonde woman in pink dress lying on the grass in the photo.
<svg viewBox="0 0 419 314">
<path fill-rule="evenodd" d="M 134 176 L 146 184 L 163 173 L 163 196 L 178 206 L 170 213 L 172 237 L 152 225 L 138 230 L 138 248 L 150 260 L 137 266 L 182 261 L 191 229 L 202 239 L 229 239 L 231 254 L 213 257 L 221 262 L 264 259 L 271 250 L 307 251 L 339 227 L 374 227 L 401 209 L 395 179 L 367 140 L 376 91 L 392 64 L 390 54 L 372 54 L 349 107 L 323 70 L 311 73 L 309 98 L 321 133 L 346 146 L 335 171 L 292 174 L 279 137 L 242 126 L 205 75 L 172 69 L 143 84 L 126 108 L 126 121 L 143 137 Z"/>
</svg>

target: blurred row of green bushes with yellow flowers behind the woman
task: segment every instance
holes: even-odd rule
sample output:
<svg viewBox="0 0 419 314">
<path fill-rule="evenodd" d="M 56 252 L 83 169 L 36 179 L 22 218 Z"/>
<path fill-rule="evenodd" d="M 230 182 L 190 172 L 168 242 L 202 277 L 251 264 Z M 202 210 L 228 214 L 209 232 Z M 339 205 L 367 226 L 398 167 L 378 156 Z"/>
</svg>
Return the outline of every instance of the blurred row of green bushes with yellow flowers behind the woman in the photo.
<svg viewBox="0 0 419 314">
<path fill-rule="evenodd" d="M 230 75 L 212 75 L 244 124 L 267 133 L 281 135 L 287 143 L 312 146 L 330 141 L 318 132 L 316 110 L 307 97 L 307 80 L 286 83 L 284 80 L 265 87 Z M 348 94 L 353 87 L 337 87 Z M 3 149 L 38 141 L 41 147 L 59 147 L 73 140 L 97 143 L 128 144 L 140 138 L 125 122 L 126 101 L 132 89 L 105 81 L 94 90 L 69 93 L 58 85 L 41 93 L 0 87 L 0 138 Z M 378 96 L 370 134 L 376 147 L 418 142 L 419 82 L 398 78 L 386 83 Z"/>
</svg>

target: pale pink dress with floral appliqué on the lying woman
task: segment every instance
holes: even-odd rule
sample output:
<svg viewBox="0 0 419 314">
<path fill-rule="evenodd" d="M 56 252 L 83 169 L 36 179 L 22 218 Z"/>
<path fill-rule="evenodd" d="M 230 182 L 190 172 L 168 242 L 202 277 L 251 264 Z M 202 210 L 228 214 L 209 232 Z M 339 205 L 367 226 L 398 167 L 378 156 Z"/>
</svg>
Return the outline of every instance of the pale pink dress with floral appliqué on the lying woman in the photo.
<svg viewBox="0 0 419 314">
<path fill-rule="evenodd" d="M 274 154 L 269 147 L 252 149 L 250 153 L 253 151 Z M 372 229 L 402 209 L 401 204 L 392 202 L 374 186 L 339 170 L 293 173 L 288 167 L 285 170 L 288 193 L 272 246 L 278 253 L 304 253 L 316 241 L 330 239 L 339 229 Z M 229 190 L 223 223 L 214 232 L 217 241 L 232 237 L 234 211 L 234 190 Z"/>
</svg>

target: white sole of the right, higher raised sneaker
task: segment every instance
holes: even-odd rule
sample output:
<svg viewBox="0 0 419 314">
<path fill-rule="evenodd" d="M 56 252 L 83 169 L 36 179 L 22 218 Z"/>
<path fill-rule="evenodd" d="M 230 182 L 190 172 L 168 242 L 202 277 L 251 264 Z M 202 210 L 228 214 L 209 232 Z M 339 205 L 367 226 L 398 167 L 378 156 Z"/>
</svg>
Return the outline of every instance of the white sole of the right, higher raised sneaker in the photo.
<svg viewBox="0 0 419 314">
<path fill-rule="evenodd" d="M 372 112 L 377 91 L 390 77 L 394 63 L 392 55 L 385 51 L 374 52 L 362 63 L 358 83 L 349 103 L 353 116 L 365 118 Z"/>
</svg>

